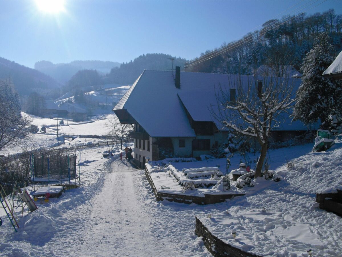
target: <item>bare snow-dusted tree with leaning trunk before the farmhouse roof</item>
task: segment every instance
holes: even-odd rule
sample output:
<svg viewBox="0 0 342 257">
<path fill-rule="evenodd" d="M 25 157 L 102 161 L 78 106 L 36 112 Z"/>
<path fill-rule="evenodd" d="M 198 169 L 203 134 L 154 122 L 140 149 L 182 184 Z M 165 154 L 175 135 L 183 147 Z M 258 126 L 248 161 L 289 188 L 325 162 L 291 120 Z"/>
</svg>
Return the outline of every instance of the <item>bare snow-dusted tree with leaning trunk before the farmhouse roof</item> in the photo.
<svg viewBox="0 0 342 257">
<path fill-rule="evenodd" d="M 236 89 L 235 99 L 230 96 L 232 90 L 228 92 L 221 86 L 216 94 L 219 108 L 215 111 L 212 107 L 214 117 L 227 128 L 256 138 L 261 146 L 255 178 L 262 176 L 271 130 L 279 125 L 283 120 L 281 114 L 295 100 L 294 82 L 295 79 L 264 77 L 257 81 L 255 77 L 238 76 L 230 83 L 230 89 Z"/>
</svg>

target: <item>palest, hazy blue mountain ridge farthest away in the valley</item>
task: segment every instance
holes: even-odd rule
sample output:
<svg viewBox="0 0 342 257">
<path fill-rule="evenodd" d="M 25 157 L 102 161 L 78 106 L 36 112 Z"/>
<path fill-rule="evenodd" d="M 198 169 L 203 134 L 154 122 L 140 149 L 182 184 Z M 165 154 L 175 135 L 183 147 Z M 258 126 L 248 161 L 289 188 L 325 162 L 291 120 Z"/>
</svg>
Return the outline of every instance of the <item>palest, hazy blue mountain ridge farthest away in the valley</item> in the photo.
<svg viewBox="0 0 342 257">
<path fill-rule="evenodd" d="M 111 61 L 72 61 L 70 63 L 52 63 L 39 61 L 35 63 L 35 69 L 47 74 L 60 83 L 66 83 L 80 70 L 97 70 L 99 73 L 109 73 L 111 69 L 120 66 L 118 62 Z"/>
</svg>

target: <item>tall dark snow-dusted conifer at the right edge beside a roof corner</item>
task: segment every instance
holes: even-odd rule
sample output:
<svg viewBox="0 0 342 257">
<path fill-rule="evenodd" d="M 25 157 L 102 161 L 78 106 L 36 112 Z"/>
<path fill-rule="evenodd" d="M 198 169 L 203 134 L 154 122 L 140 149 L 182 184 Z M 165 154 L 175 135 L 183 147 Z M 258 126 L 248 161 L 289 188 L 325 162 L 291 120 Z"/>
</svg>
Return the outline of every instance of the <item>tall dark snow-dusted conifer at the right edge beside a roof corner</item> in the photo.
<svg viewBox="0 0 342 257">
<path fill-rule="evenodd" d="M 302 83 L 293 109 L 294 119 L 305 124 L 320 119 L 323 129 L 330 128 L 329 115 L 341 117 L 342 114 L 341 83 L 322 75 L 334 60 L 335 51 L 329 41 L 327 33 L 319 34 L 313 48 L 306 54 L 301 67 Z"/>
</svg>

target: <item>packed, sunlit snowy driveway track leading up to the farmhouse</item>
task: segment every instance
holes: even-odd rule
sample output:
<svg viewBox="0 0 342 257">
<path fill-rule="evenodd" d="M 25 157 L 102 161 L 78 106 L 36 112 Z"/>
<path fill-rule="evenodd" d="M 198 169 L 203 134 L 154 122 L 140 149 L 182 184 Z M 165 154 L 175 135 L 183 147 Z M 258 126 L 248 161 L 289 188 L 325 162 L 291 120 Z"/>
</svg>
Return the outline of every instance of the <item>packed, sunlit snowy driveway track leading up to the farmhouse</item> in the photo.
<svg viewBox="0 0 342 257">
<path fill-rule="evenodd" d="M 168 242 L 152 233 L 156 220 L 149 215 L 148 206 L 137 199 L 134 188 L 136 169 L 130 164 L 127 166 L 126 161 L 115 161 L 112 169 L 102 192 L 92 203 L 92 225 L 83 237 L 87 243 L 77 252 L 87 255 L 162 255 Z M 71 255 L 78 255 L 77 252 Z M 179 254 L 176 249 L 168 252 Z"/>
</svg>

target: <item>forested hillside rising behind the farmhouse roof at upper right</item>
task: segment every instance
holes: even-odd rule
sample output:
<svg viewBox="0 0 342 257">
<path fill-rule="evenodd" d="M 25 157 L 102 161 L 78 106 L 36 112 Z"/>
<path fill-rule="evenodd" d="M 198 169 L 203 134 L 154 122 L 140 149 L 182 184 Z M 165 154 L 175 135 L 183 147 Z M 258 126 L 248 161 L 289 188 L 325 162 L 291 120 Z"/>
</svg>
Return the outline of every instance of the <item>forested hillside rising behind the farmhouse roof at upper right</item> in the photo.
<svg viewBox="0 0 342 257">
<path fill-rule="evenodd" d="M 237 41 L 224 43 L 218 49 L 201 53 L 187 64 L 187 71 L 255 74 L 261 65 L 267 65 L 277 76 L 283 76 L 287 65 L 300 70 L 303 59 L 312 49 L 315 38 L 327 32 L 334 54 L 342 50 L 342 15 L 333 9 L 323 13 L 284 16 L 269 20 L 260 30 Z"/>
</svg>

